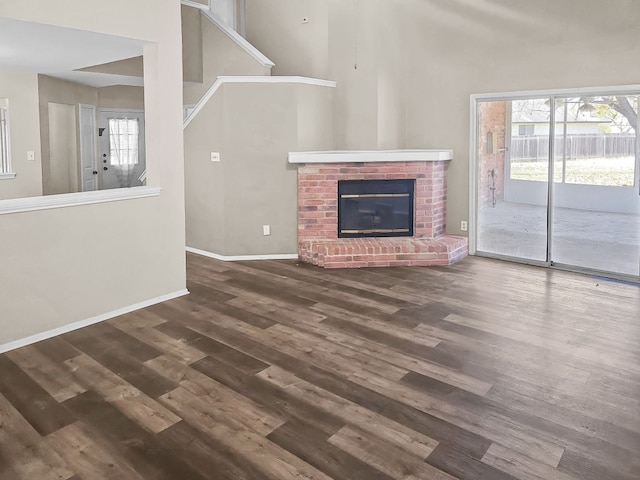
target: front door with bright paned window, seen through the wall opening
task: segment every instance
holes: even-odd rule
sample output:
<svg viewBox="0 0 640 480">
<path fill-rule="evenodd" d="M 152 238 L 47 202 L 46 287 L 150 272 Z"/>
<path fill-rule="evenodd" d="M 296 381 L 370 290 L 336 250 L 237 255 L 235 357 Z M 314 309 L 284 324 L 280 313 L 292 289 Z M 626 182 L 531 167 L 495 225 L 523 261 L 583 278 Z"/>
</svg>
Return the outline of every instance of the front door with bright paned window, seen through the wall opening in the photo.
<svg viewBox="0 0 640 480">
<path fill-rule="evenodd" d="M 101 189 L 142 185 L 145 171 L 144 112 L 101 110 L 100 137 Z"/>
</svg>

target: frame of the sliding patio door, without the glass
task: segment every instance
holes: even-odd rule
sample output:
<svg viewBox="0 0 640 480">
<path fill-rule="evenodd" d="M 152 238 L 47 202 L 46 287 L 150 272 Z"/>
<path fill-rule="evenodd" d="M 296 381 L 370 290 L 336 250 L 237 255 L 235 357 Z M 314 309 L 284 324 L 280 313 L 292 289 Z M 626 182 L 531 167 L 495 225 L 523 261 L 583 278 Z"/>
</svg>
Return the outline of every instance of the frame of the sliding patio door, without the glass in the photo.
<svg viewBox="0 0 640 480">
<path fill-rule="evenodd" d="M 525 90 L 525 91 L 513 91 L 513 92 L 499 92 L 499 93 L 480 93 L 472 94 L 470 96 L 470 119 L 469 119 L 469 254 L 490 256 L 491 258 L 497 258 L 502 260 L 509 260 L 519 263 L 525 263 L 530 265 L 554 267 L 562 270 L 571 270 L 582 273 L 602 273 L 603 275 L 613 278 L 621 278 L 624 280 L 632 280 L 637 282 L 639 277 L 629 277 L 627 275 L 618 275 L 611 272 L 600 272 L 597 270 L 582 268 L 573 265 L 564 265 L 553 262 L 552 257 L 552 245 L 553 242 L 553 195 L 554 195 L 554 182 L 551 180 L 554 178 L 555 167 L 555 122 L 556 122 L 556 101 L 558 98 L 565 97 L 588 97 L 594 95 L 640 95 L 640 85 L 619 85 L 619 86 L 607 86 L 607 87 L 580 87 L 580 88 L 563 88 L 563 89 L 551 89 L 551 90 Z M 546 261 L 536 261 L 530 259 L 523 259 L 517 257 L 510 257 L 499 254 L 488 255 L 483 252 L 478 252 L 478 105 L 484 102 L 505 102 L 511 100 L 526 100 L 533 98 L 549 98 L 550 100 L 550 118 L 549 118 L 549 177 L 547 179 L 547 258 Z M 637 133 L 640 136 L 640 132 Z M 640 145 L 636 145 L 636 148 L 640 148 Z M 637 169 L 637 161 L 636 161 Z M 638 179 L 636 188 L 640 188 L 639 173 L 635 172 L 635 178 Z M 639 192 L 640 195 L 640 192 Z"/>
</svg>

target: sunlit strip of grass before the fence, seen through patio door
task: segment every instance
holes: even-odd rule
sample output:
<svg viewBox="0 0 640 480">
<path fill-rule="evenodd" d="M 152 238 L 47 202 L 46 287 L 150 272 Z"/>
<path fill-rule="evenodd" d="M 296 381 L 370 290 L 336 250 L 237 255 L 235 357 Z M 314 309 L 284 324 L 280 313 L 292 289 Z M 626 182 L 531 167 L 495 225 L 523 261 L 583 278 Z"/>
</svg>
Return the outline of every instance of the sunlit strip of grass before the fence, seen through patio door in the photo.
<svg viewBox="0 0 640 480">
<path fill-rule="evenodd" d="M 546 182 L 548 169 L 549 166 L 546 161 L 512 161 L 511 178 L 513 180 Z M 565 183 L 632 187 L 635 176 L 635 158 L 581 158 L 567 160 L 565 175 Z M 556 182 L 562 181 L 562 159 L 556 160 L 554 179 Z"/>
</svg>

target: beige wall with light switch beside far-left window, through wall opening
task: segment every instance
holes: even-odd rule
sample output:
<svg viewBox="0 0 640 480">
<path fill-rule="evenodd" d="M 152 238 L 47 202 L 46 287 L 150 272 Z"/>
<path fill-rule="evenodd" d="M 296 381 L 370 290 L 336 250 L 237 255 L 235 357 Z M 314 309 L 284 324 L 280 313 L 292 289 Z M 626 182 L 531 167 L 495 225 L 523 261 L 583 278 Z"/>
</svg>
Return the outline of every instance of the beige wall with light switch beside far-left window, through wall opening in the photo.
<svg viewBox="0 0 640 480">
<path fill-rule="evenodd" d="M 42 195 L 38 76 L 0 72 L 0 98 L 9 99 L 11 166 L 16 177 L 0 180 L 0 200 Z M 35 161 L 27 152 L 35 152 Z"/>
</svg>

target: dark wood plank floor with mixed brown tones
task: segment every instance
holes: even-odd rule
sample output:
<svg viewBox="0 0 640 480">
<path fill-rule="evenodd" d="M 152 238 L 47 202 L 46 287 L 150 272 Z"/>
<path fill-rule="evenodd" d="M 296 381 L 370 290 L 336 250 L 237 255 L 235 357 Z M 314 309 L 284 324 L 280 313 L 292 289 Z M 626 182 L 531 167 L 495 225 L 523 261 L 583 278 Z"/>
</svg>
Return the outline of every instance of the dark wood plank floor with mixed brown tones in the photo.
<svg viewBox="0 0 640 480">
<path fill-rule="evenodd" d="M 0 479 L 640 478 L 639 286 L 481 258 L 188 278 L 0 355 Z"/>
</svg>

